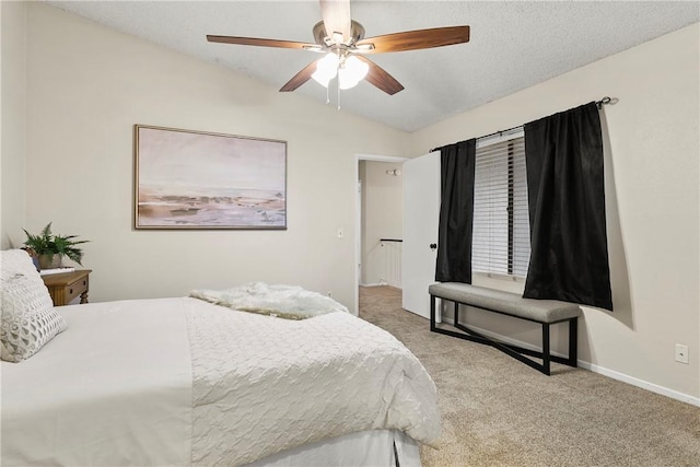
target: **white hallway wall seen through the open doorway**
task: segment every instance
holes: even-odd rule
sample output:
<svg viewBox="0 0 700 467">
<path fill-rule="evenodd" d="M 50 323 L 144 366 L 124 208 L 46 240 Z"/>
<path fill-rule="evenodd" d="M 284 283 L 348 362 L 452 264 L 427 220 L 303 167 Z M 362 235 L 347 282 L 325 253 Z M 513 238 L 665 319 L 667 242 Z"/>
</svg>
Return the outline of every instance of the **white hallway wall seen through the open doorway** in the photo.
<svg viewBox="0 0 700 467">
<path fill-rule="evenodd" d="M 400 245 L 382 245 L 380 238 L 402 237 L 404 194 L 400 175 L 387 175 L 386 171 L 398 170 L 401 164 L 362 161 L 362 281 L 363 284 L 387 282 L 387 250 Z M 396 285 L 396 284 L 393 284 Z"/>
</svg>

